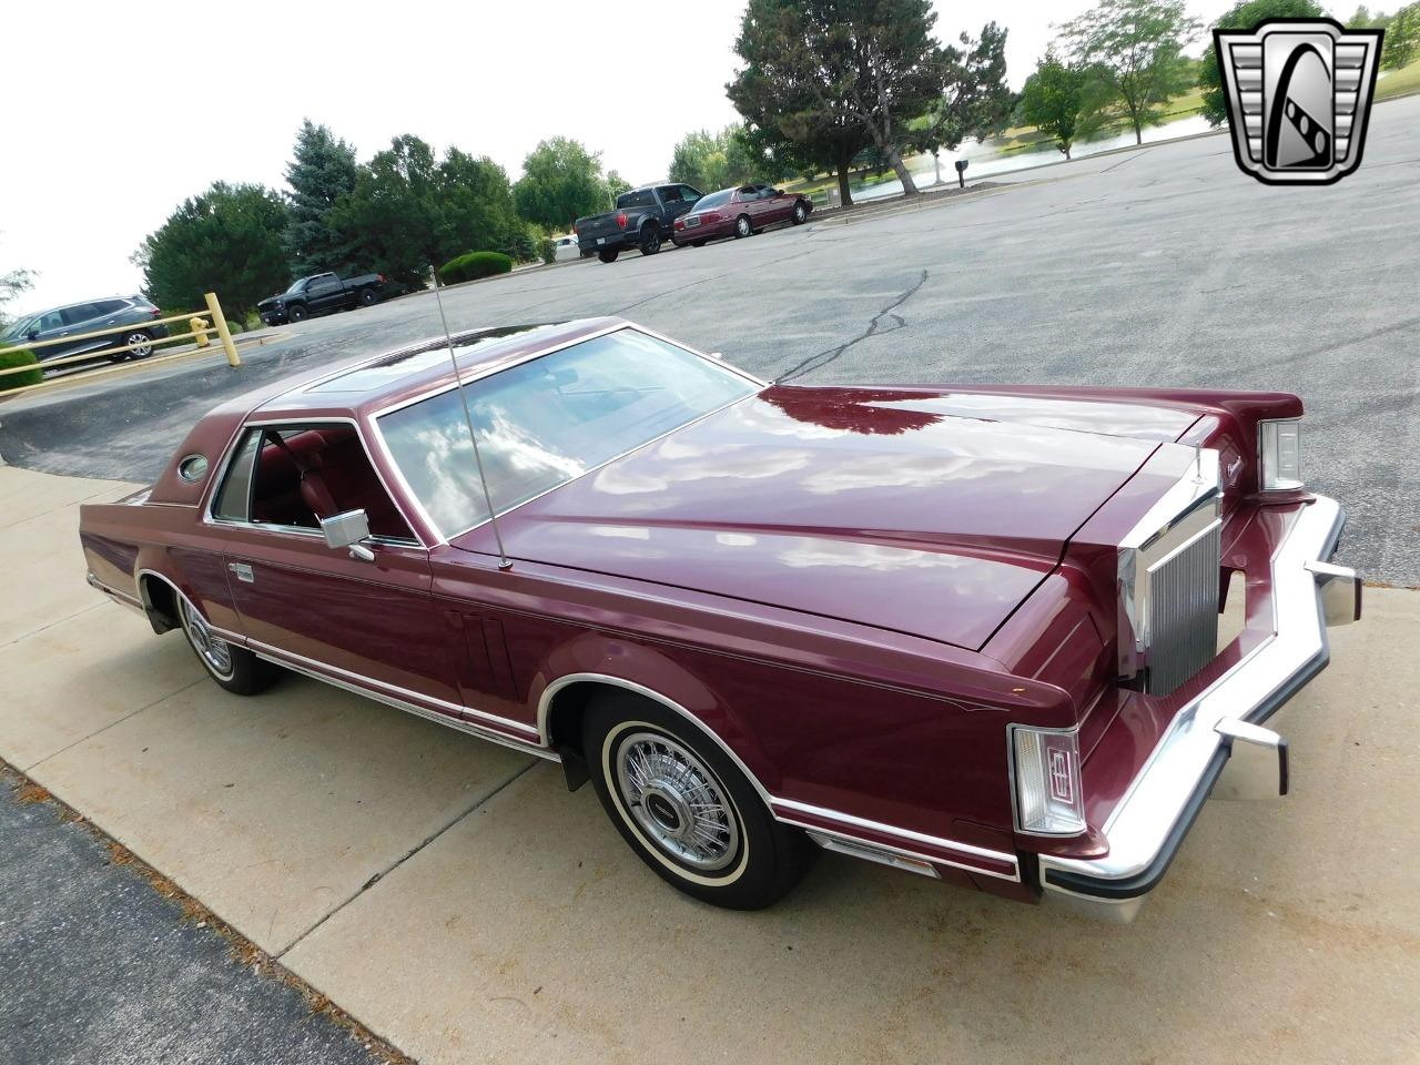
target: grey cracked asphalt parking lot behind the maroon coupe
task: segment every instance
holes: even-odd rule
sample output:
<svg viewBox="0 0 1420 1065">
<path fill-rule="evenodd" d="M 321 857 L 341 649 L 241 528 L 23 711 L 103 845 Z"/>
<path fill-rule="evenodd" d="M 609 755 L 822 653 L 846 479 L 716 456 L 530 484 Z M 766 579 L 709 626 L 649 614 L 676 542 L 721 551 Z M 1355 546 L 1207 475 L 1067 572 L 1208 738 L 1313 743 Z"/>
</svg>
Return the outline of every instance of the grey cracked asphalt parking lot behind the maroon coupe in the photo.
<svg viewBox="0 0 1420 1065">
<path fill-rule="evenodd" d="M 1420 585 L 1420 97 L 1380 104 L 1339 185 L 1268 187 L 1223 136 L 1030 170 L 852 224 L 532 270 L 449 290 L 456 329 L 619 314 L 765 376 L 1284 389 L 1343 559 Z M 1000 180 L 1000 179 L 993 179 Z M 0 403 L 0 456 L 145 480 L 217 399 L 439 332 L 432 294 L 217 359 Z M 105 396 L 95 402 L 94 396 Z"/>
</svg>

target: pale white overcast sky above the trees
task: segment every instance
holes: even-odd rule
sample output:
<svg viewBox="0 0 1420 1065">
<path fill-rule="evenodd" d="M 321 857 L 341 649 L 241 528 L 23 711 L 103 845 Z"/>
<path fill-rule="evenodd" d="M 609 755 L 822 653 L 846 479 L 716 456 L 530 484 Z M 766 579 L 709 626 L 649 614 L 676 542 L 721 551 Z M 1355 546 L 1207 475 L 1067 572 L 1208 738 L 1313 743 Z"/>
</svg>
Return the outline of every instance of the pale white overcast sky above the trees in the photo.
<svg viewBox="0 0 1420 1065">
<path fill-rule="evenodd" d="M 1189 0 L 1206 23 L 1230 6 Z M 954 41 L 988 20 L 1008 27 L 1008 80 L 1020 88 L 1051 24 L 1086 7 L 936 0 L 937 33 Z M 10 310 L 136 291 L 128 257 L 143 236 L 213 180 L 281 187 L 307 116 L 362 160 L 409 132 L 439 152 L 488 155 L 515 179 L 540 139 L 565 135 L 633 183 L 663 178 L 684 132 L 736 119 L 724 82 L 743 9 L 16 0 L 0 67 L 0 273 L 38 277 Z M 659 54 L 632 44 L 646 37 Z"/>
</svg>

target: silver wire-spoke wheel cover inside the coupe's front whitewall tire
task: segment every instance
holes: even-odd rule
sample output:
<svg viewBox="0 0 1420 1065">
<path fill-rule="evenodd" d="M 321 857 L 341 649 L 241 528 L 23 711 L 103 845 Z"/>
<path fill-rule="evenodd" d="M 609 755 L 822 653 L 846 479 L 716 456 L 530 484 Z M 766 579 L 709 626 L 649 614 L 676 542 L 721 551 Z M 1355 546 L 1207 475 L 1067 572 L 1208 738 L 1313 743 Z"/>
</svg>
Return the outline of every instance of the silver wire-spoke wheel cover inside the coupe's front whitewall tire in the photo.
<svg viewBox="0 0 1420 1065">
<path fill-rule="evenodd" d="M 738 815 L 689 748 L 660 733 L 633 733 L 616 751 L 616 784 L 645 836 L 667 856 L 700 872 L 734 861 Z"/>
</svg>

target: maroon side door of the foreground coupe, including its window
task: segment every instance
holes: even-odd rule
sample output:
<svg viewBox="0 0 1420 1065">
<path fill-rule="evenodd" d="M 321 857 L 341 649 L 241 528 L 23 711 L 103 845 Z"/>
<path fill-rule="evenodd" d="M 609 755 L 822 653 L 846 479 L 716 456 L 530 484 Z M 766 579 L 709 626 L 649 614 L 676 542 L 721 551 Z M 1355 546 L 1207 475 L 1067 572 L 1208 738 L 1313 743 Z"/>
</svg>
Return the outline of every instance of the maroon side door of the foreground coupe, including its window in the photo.
<svg viewBox="0 0 1420 1065">
<path fill-rule="evenodd" d="M 409 531 L 352 423 L 247 430 L 210 507 L 253 650 L 295 669 L 460 716 L 429 551 Z M 322 498 L 324 503 L 312 504 Z M 318 510 L 366 510 L 373 561 L 332 550 Z"/>
</svg>

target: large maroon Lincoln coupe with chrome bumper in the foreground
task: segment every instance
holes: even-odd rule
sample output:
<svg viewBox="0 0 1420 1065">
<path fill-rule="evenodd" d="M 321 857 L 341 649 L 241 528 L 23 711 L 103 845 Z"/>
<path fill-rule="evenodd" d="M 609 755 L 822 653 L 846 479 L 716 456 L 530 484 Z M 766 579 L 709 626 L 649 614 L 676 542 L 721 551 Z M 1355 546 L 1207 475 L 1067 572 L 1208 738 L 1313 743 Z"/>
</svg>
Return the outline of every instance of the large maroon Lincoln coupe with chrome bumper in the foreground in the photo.
<svg viewBox="0 0 1420 1065">
<path fill-rule="evenodd" d="M 707 902 L 816 845 L 1127 919 L 1234 746 L 1285 791 L 1260 723 L 1360 615 L 1295 396 L 765 385 L 618 320 L 453 348 L 217 408 L 84 507 L 89 582 L 229 692 L 559 761 Z"/>
</svg>

